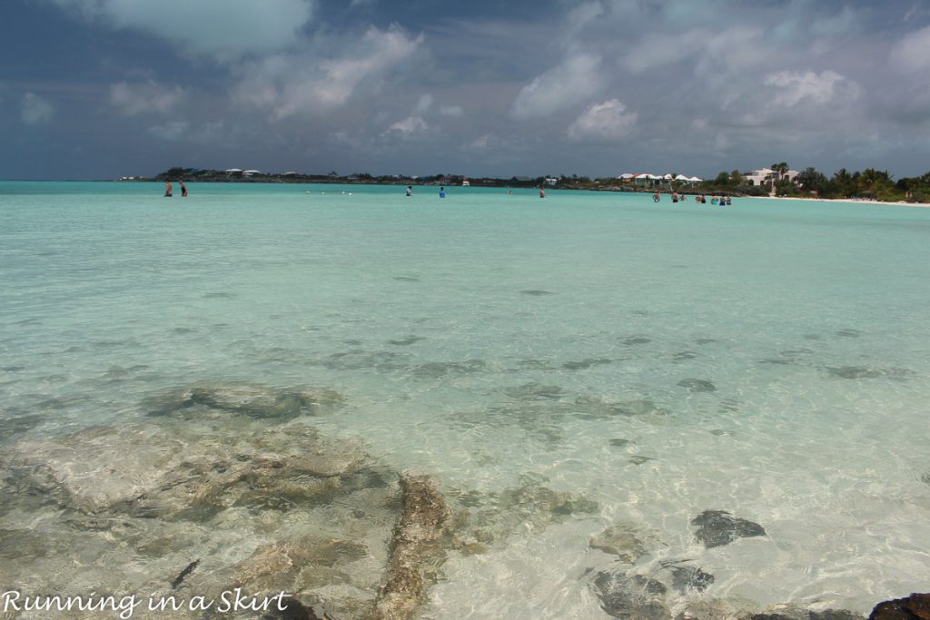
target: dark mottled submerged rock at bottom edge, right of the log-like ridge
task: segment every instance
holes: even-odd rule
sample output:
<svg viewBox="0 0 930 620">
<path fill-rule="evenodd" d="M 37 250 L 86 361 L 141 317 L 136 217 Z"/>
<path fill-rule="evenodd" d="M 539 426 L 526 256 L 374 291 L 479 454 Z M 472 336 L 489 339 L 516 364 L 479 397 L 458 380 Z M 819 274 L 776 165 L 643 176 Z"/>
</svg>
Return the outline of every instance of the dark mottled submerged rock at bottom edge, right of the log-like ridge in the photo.
<svg viewBox="0 0 930 620">
<path fill-rule="evenodd" d="M 665 602 L 667 588 L 641 574 L 631 577 L 619 572 L 602 571 L 594 577 L 594 591 L 604 613 L 624 620 L 669 620 L 671 612 Z"/>
</svg>

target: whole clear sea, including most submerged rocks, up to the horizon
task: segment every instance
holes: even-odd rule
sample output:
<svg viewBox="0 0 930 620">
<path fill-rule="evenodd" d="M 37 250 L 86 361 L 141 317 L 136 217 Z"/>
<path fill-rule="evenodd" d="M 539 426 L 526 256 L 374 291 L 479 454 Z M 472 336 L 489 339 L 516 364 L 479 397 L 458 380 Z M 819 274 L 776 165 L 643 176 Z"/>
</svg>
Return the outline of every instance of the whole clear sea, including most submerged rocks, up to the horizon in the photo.
<svg viewBox="0 0 930 620">
<path fill-rule="evenodd" d="M 398 472 L 455 515 L 424 618 L 930 583 L 930 209 L 188 188 L 0 182 L 4 591 L 362 617 Z"/>
</svg>

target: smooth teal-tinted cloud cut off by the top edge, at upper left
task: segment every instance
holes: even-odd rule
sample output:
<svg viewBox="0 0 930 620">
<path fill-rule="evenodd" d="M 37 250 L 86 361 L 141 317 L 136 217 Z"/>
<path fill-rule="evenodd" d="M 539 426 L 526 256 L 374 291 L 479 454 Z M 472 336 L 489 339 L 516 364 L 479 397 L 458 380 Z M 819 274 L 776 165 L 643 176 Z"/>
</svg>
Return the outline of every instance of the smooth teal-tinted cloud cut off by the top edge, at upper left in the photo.
<svg viewBox="0 0 930 620">
<path fill-rule="evenodd" d="M 46 0 L 91 22 L 149 33 L 194 55 L 234 59 L 286 49 L 312 16 L 311 0 Z"/>
</svg>

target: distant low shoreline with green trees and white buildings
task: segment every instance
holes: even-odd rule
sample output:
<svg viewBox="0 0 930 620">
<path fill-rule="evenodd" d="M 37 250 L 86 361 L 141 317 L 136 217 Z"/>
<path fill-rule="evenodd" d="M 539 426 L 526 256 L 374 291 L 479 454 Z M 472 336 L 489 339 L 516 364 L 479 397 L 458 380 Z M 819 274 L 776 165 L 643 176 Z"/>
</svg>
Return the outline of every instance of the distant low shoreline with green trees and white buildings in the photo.
<svg viewBox="0 0 930 620">
<path fill-rule="evenodd" d="M 578 175 L 558 177 L 466 177 L 439 174 L 428 177 L 405 175 L 373 176 L 368 173 L 339 175 L 299 172 L 267 173 L 259 170 L 213 170 L 206 168 L 172 167 L 154 177 L 124 177 L 126 181 L 166 181 L 184 179 L 199 182 L 237 183 L 338 183 L 360 185 L 445 185 L 475 187 L 539 188 L 586 191 L 672 192 L 687 194 L 725 194 L 730 196 L 777 196 L 819 198 L 827 200 L 870 200 L 885 203 L 930 204 L 930 172 L 921 177 L 899 178 L 888 171 L 867 168 L 850 173 L 845 168 L 831 178 L 813 167 L 798 172 L 785 162 L 753 172 L 721 172 L 716 178 L 698 180 L 682 175 L 622 175 L 617 178 L 589 178 Z"/>
</svg>

